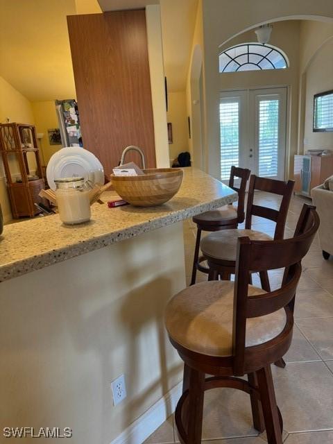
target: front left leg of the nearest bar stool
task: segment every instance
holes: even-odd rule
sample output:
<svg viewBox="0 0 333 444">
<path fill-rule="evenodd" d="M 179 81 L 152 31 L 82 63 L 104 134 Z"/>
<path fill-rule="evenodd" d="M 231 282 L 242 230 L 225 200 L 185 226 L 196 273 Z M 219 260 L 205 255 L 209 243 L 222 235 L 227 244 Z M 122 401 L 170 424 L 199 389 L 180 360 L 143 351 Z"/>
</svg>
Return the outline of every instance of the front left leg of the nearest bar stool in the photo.
<svg viewBox="0 0 333 444">
<path fill-rule="evenodd" d="M 187 443 L 201 444 L 203 430 L 203 398 L 205 393 L 205 373 L 191 368 L 189 375 L 189 404 Z"/>
</svg>

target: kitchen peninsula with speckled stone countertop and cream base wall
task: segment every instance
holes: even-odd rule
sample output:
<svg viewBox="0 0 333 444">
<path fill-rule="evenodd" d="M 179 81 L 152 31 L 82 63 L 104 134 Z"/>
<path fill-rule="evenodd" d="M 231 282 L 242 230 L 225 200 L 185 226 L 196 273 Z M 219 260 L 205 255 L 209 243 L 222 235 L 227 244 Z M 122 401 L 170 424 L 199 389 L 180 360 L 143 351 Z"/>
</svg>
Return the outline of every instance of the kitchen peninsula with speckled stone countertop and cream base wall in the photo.
<svg viewBox="0 0 333 444">
<path fill-rule="evenodd" d="M 71 427 L 72 443 L 110 444 L 167 399 L 182 370 L 162 323 L 167 300 L 185 287 L 181 221 L 234 200 L 232 189 L 186 169 L 178 194 L 158 207 L 94 204 L 83 225 L 58 215 L 6 225 L 0 427 Z M 127 398 L 113 407 L 110 382 L 121 374 Z"/>
</svg>

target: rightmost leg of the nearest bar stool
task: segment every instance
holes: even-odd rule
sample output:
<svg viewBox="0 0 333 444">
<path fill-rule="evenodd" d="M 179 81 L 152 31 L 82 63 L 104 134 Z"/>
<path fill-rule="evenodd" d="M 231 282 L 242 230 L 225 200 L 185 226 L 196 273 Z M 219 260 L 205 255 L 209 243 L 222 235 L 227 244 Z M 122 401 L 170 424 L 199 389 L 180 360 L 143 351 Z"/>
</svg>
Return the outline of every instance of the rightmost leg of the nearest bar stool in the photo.
<svg viewBox="0 0 333 444">
<path fill-rule="evenodd" d="M 271 366 L 268 365 L 261 368 L 256 373 L 268 444 L 282 444 L 282 431 L 275 399 Z"/>
</svg>

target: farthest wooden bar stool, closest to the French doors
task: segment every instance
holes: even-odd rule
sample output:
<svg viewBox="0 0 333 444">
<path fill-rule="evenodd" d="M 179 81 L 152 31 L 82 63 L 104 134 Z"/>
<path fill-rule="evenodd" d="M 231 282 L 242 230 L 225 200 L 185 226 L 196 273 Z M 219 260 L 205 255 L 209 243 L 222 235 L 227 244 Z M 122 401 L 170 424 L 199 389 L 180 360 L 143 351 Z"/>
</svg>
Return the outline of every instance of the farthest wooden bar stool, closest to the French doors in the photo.
<svg viewBox="0 0 333 444">
<path fill-rule="evenodd" d="M 200 265 L 203 262 L 203 257 L 199 258 L 200 239 L 202 231 L 220 231 L 228 230 L 229 228 L 237 228 L 239 223 L 244 221 L 244 200 L 246 192 L 246 184 L 250 177 L 250 170 L 238 167 L 231 167 L 229 187 L 238 193 L 237 208 L 233 205 L 225 205 L 219 210 L 207 211 L 198 214 L 192 219 L 197 226 L 196 232 L 196 248 L 194 250 L 194 259 L 192 267 L 191 285 L 196 283 L 196 270 L 199 269 L 203 273 L 208 273 L 209 269 Z M 239 187 L 234 184 L 234 178 L 240 178 Z"/>
</svg>

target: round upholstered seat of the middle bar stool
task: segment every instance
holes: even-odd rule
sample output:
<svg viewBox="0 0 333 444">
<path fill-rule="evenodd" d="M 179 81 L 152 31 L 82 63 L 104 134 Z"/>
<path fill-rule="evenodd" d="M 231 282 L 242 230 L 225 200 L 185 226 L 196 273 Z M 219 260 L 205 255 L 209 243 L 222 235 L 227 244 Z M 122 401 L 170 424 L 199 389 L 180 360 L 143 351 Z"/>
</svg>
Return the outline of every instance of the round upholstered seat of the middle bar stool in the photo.
<svg viewBox="0 0 333 444">
<path fill-rule="evenodd" d="M 200 248 L 205 257 L 220 261 L 235 262 L 237 254 L 237 239 L 247 236 L 251 241 L 272 241 L 268 234 L 255 230 L 224 230 L 208 234 L 200 242 Z"/>
</svg>

